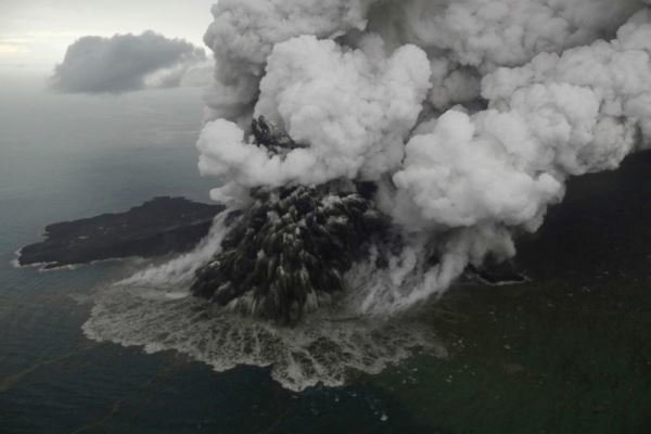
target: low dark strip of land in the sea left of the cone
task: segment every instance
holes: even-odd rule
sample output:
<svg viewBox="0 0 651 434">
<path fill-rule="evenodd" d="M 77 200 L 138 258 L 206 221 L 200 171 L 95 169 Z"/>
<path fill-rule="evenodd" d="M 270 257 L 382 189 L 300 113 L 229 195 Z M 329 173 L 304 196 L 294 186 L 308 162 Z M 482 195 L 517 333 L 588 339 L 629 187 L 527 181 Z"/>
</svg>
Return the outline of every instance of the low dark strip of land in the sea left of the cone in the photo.
<svg viewBox="0 0 651 434">
<path fill-rule="evenodd" d="M 124 213 L 53 224 L 44 240 L 17 252 L 17 265 L 53 269 L 192 250 L 224 206 L 159 196 Z"/>
</svg>

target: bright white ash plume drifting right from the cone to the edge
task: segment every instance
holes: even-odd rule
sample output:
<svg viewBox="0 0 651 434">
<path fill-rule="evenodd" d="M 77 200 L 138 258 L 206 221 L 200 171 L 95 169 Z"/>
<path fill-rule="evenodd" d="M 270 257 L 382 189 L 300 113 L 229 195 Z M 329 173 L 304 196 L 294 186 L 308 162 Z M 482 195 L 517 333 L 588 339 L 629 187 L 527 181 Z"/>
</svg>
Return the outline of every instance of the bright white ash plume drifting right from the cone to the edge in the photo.
<svg viewBox="0 0 651 434">
<path fill-rule="evenodd" d="M 398 220 L 438 231 L 487 222 L 535 231 L 547 207 L 562 199 L 569 176 L 614 169 L 640 140 L 648 143 L 649 11 L 617 36 L 500 68 L 483 80 L 488 110 L 447 112 L 430 133 L 414 136 L 393 178 Z M 409 221 L 413 212 L 419 218 Z M 482 258 L 456 257 L 465 264 Z"/>
</svg>

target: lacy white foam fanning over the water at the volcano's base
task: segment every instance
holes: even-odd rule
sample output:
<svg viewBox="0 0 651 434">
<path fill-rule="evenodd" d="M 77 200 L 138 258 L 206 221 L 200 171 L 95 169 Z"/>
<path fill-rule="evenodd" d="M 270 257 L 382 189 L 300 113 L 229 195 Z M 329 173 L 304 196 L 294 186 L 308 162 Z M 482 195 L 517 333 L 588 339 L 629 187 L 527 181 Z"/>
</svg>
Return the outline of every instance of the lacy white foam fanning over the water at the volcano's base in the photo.
<svg viewBox="0 0 651 434">
<path fill-rule="evenodd" d="M 434 334 L 416 321 L 316 312 L 294 329 L 279 328 L 194 297 L 170 298 L 120 284 L 99 294 L 85 334 L 94 341 L 177 350 L 224 372 L 271 367 L 285 388 L 345 384 L 349 373 L 380 373 L 419 352 L 445 357 Z"/>
</svg>

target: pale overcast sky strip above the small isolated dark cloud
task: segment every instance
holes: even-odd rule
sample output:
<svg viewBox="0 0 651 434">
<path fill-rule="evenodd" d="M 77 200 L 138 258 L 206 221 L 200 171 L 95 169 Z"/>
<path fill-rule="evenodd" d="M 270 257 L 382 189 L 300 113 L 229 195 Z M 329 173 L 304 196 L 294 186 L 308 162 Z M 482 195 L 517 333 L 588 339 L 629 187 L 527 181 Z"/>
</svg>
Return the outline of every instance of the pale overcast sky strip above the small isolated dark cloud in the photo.
<svg viewBox="0 0 651 434">
<path fill-rule="evenodd" d="M 87 36 L 151 29 L 203 47 L 217 0 L 0 0 L 0 67 L 51 69 Z"/>
</svg>

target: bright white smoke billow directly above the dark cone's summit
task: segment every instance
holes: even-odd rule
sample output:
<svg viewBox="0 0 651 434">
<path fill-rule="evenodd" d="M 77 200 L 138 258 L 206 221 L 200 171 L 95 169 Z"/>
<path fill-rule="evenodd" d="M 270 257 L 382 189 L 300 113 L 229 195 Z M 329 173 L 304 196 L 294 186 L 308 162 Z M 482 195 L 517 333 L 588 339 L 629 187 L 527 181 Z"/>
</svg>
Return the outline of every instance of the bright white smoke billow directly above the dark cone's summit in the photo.
<svg viewBox="0 0 651 434">
<path fill-rule="evenodd" d="M 255 112 L 310 146 L 286 157 L 269 156 L 246 143 L 237 125 L 217 122 L 206 127 L 199 142 L 202 171 L 228 176 L 245 187 L 277 187 L 341 177 L 376 180 L 397 169 L 404 140 L 430 87 L 430 65 L 414 46 L 401 47 L 390 58 L 381 46 L 367 49 L 346 50 L 312 36 L 277 44 Z M 344 101 L 346 110 L 341 106 Z"/>
</svg>

